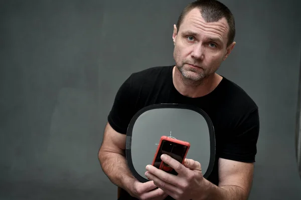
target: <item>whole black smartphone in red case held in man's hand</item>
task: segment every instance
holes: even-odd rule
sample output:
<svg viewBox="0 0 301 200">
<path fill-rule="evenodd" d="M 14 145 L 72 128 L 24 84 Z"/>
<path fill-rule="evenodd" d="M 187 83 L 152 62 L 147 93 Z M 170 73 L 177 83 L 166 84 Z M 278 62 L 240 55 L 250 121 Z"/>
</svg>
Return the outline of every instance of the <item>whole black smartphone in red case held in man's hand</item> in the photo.
<svg viewBox="0 0 301 200">
<path fill-rule="evenodd" d="M 166 172 L 177 175 L 178 172 L 174 170 L 171 166 L 161 160 L 162 154 L 167 154 L 184 164 L 185 157 L 190 148 L 190 143 L 187 141 L 182 141 L 169 136 L 161 136 L 159 145 L 157 147 L 153 165 L 159 169 Z"/>
</svg>

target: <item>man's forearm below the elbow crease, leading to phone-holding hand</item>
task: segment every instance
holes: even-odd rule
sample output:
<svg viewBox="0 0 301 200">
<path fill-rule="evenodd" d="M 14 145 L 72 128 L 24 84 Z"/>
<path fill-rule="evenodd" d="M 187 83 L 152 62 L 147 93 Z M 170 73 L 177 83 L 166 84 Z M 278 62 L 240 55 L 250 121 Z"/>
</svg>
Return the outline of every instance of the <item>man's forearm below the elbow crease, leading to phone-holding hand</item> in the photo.
<svg viewBox="0 0 301 200">
<path fill-rule="evenodd" d="M 207 194 L 204 196 L 206 200 L 246 200 L 247 194 L 243 188 L 236 185 L 216 186 L 215 184 L 207 181 Z M 200 200 L 201 200 L 200 199 Z"/>
</svg>

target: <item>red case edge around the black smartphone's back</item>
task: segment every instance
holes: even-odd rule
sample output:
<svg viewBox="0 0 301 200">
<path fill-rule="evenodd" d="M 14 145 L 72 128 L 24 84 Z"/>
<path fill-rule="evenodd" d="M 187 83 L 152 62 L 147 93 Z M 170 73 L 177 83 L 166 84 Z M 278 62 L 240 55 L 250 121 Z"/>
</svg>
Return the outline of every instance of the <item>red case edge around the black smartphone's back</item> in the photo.
<svg viewBox="0 0 301 200">
<path fill-rule="evenodd" d="M 185 157 L 187 155 L 187 152 L 188 152 L 188 149 L 190 148 L 190 143 L 187 142 L 187 141 L 182 141 L 180 139 L 175 139 L 175 138 L 172 138 L 172 137 L 169 137 L 169 136 L 161 136 L 161 139 L 160 139 L 160 143 L 157 147 L 157 150 L 156 150 L 156 153 L 155 153 L 155 156 L 154 156 L 154 159 L 153 159 L 153 165 L 155 165 L 155 160 L 156 160 L 156 157 L 160 151 L 160 148 L 161 148 L 161 145 L 162 145 L 162 141 L 163 140 L 167 140 L 167 141 L 171 141 L 173 143 L 178 143 L 178 144 L 182 144 L 182 145 L 185 145 L 187 146 L 187 149 L 186 149 L 186 152 L 185 152 L 185 155 L 183 157 L 183 160 L 182 160 L 182 164 L 184 164 L 184 160 L 185 160 Z M 164 171 L 167 171 L 167 172 L 170 172 L 173 170 L 172 167 L 168 166 L 166 163 L 164 163 L 163 161 L 161 161 L 161 164 L 160 164 L 160 169 L 164 170 Z"/>
</svg>

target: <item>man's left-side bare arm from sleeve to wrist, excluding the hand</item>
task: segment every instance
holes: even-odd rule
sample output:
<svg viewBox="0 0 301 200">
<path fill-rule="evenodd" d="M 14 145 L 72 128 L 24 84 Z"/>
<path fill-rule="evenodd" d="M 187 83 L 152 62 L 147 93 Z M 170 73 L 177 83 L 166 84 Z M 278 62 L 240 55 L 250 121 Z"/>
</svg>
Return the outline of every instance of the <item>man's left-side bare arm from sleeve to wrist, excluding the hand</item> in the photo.
<svg viewBox="0 0 301 200">
<path fill-rule="evenodd" d="M 116 132 L 109 123 L 106 124 L 101 147 L 98 152 L 100 165 L 104 173 L 115 185 L 129 190 L 128 186 L 135 180 L 128 169 L 125 159 L 126 135 Z"/>
</svg>

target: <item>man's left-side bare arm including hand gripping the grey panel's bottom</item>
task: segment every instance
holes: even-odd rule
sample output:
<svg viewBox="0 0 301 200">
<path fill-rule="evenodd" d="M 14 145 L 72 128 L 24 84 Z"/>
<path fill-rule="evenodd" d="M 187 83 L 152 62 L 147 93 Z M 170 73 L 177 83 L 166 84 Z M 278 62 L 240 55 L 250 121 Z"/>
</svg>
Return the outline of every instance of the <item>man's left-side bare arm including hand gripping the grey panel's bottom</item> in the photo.
<svg viewBox="0 0 301 200">
<path fill-rule="evenodd" d="M 162 200 L 168 194 L 162 189 L 155 189 L 153 181 L 139 182 L 130 172 L 125 155 L 126 135 L 116 132 L 106 124 L 98 159 L 104 173 L 111 182 L 125 189 L 131 196 L 139 199 Z M 155 189 L 155 190 L 154 190 Z"/>
</svg>

